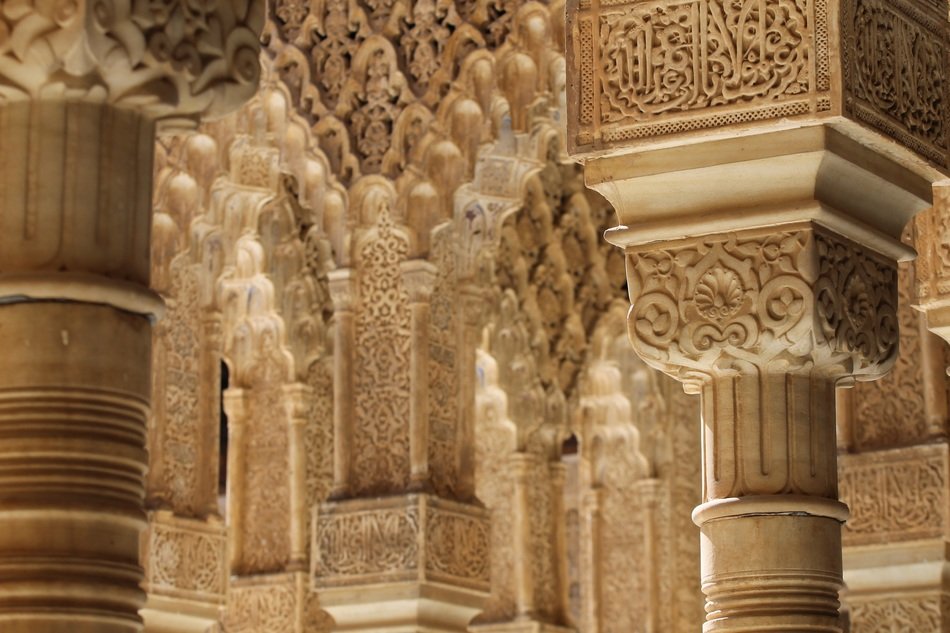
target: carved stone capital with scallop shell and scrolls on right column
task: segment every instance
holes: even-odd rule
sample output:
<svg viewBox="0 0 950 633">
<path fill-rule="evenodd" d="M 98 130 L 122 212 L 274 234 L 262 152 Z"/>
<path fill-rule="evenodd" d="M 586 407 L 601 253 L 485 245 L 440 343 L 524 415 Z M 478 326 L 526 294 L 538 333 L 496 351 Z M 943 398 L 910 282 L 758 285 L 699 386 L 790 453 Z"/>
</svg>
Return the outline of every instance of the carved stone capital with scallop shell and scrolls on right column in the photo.
<svg viewBox="0 0 950 633">
<path fill-rule="evenodd" d="M 630 338 L 693 392 L 717 377 L 873 378 L 895 361 L 894 261 L 817 225 L 627 250 Z"/>
</svg>

